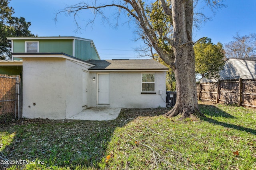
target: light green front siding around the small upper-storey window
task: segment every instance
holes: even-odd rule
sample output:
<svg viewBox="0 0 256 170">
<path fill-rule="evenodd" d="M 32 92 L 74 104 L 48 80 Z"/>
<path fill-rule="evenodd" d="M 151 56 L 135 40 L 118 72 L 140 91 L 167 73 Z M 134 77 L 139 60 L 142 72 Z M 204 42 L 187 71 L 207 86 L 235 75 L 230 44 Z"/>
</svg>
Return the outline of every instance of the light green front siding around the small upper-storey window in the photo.
<svg viewBox="0 0 256 170">
<path fill-rule="evenodd" d="M 25 41 L 39 41 L 39 53 L 65 53 L 73 55 L 72 39 L 13 40 L 13 52 L 25 53 Z"/>
</svg>

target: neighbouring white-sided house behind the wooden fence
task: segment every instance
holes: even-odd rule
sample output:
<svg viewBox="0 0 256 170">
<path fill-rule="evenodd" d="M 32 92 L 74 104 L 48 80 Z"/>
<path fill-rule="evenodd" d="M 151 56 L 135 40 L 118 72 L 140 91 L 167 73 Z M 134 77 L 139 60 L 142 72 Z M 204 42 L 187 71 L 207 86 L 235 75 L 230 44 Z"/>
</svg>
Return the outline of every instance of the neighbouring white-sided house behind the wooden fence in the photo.
<svg viewBox="0 0 256 170">
<path fill-rule="evenodd" d="M 224 62 L 220 70 L 220 80 L 254 79 L 256 78 L 256 58 L 230 58 Z M 202 82 L 218 82 L 215 79 L 201 78 Z"/>
</svg>

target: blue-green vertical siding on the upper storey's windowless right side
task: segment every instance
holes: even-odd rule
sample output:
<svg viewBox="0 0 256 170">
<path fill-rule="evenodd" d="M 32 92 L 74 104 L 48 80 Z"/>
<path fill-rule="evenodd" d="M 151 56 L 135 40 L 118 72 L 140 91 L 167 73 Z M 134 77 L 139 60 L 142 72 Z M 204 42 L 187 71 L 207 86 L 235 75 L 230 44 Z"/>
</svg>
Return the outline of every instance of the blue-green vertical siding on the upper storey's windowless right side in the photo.
<svg viewBox="0 0 256 170">
<path fill-rule="evenodd" d="M 78 59 L 87 60 L 98 60 L 100 59 L 98 53 L 94 47 L 91 47 L 91 41 L 75 40 L 75 56 Z"/>
</svg>

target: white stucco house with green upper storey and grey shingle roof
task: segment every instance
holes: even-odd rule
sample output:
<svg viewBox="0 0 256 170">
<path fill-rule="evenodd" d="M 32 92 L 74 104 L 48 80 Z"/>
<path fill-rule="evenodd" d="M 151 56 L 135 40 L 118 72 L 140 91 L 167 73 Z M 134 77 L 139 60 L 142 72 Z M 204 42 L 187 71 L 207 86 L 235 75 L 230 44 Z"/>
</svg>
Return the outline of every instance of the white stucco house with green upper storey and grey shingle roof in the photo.
<svg viewBox="0 0 256 170">
<path fill-rule="evenodd" d="M 87 107 L 166 107 L 168 68 L 157 61 L 100 60 L 92 40 L 77 37 L 9 39 L 12 59 L 22 59 L 24 117 L 66 119 Z"/>
</svg>

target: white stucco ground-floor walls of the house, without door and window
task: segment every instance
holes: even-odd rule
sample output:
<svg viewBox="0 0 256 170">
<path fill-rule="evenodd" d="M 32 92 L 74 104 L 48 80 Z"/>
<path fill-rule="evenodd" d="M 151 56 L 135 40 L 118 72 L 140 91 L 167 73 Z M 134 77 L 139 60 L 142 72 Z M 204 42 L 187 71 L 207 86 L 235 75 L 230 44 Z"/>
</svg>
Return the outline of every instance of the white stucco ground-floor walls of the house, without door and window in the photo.
<svg viewBox="0 0 256 170">
<path fill-rule="evenodd" d="M 98 74 L 90 65 L 66 58 L 23 58 L 23 116 L 28 118 L 66 119 L 81 112 L 83 70 L 87 71 L 87 106 L 97 104 Z M 165 71 L 156 73 L 156 94 L 141 94 L 142 72 L 108 72 L 110 107 L 166 107 Z M 92 80 L 93 78 L 96 80 Z M 162 92 L 162 95 L 159 94 Z"/>
</svg>

